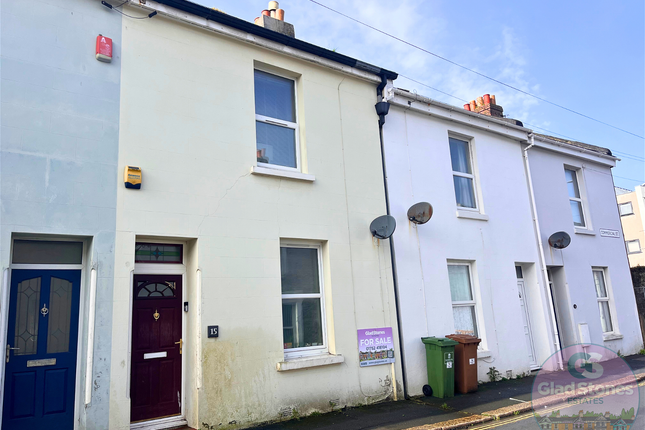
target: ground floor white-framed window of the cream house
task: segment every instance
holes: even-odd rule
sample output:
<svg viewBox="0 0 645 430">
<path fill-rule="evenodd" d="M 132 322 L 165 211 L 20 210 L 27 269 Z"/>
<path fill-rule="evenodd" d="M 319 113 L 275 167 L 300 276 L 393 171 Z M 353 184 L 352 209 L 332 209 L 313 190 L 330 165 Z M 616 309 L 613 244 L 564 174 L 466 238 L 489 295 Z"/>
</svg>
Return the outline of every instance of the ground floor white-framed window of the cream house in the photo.
<svg viewBox="0 0 645 430">
<path fill-rule="evenodd" d="M 321 247 L 280 247 L 282 335 L 285 357 L 326 350 Z"/>
</svg>

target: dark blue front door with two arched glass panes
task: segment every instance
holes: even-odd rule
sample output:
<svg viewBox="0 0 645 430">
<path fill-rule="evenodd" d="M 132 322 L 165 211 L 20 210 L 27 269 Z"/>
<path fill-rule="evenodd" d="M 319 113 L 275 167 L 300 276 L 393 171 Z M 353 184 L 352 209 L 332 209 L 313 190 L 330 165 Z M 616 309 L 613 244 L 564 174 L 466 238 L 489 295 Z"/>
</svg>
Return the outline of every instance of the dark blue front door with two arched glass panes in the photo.
<svg viewBox="0 0 645 430">
<path fill-rule="evenodd" d="M 2 430 L 74 428 L 80 270 L 12 270 Z"/>
</svg>

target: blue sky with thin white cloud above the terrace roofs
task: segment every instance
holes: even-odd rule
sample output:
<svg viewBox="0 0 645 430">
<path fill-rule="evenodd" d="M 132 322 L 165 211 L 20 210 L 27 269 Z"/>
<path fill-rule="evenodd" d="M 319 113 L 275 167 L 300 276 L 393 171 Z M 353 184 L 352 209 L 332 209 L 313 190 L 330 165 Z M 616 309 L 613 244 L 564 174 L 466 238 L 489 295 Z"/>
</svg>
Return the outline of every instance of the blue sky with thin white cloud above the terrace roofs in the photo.
<svg viewBox="0 0 645 430">
<path fill-rule="evenodd" d="M 263 0 L 193 0 L 253 21 Z M 645 135 L 642 0 L 476 2 L 317 0 L 495 79 Z M 617 186 L 645 182 L 645 141 L 503 87 L 363 27 L 307 0 L 283 0 L 296 37 L 472 100 L 495 94 L 504 113 L 535 131 L 610 148 Z M 463 102 L 399 77 L 395 85 Z"/>
</svg>

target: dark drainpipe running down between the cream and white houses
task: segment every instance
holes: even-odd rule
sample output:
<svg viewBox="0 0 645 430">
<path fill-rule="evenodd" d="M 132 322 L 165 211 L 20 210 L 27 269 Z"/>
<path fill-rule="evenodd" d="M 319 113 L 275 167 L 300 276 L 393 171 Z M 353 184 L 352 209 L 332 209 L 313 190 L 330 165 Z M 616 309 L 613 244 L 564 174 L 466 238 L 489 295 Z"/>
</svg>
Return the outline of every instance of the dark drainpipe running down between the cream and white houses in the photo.
<svg viewBox="0 0 645 430">
<path fill-rule="evenodd" d="M 385 124 L 385 116 L 390 110 L 390 104 L 384 101 L 383 88 L 387 85 L 387 76 L 381 75 L 381 83 L 376 88 L 376 96 L 378 102 L 376 103 L 376 113 L 379 116 L 378 131 L 381 141 L 381 166 L 383 167 L 383 188 L 385 189 L 385 208 L 386 213 L 390 215 L 390 194 L 387 189 L 387 171 L 385 169 L 385 149 L 383 147 L 383 124 Z M 399 335 L 399 350 L 401 351 L 401 376 L 403 379 L 403 398 L 408 399 L 408 384 L 407 376 L 405 373 L 405 352 L 403 351 L 403 336 L 401 333 L 401 308 L 399 307 L 399 282 L 396 274 L 396 255 L 394 253 L 394 236 L 390 236 L 390 258 L 392 259 L 392 282 L 394 284 L 394 305 L 396 306 L 396 325 Z M 394 381 L 396 389 L 396 381 Z"/>
</svg>

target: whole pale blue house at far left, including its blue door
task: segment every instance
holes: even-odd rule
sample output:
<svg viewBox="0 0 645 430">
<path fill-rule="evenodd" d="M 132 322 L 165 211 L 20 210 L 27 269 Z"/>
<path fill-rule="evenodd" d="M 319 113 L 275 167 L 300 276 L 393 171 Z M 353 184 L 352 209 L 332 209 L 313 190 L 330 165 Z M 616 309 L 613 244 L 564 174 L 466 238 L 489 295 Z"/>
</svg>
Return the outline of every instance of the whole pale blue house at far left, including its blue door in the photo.
<svg viewBox="0 0 645 430">
<path fill-rule="evenodd" d="M 0 18 L 2 430 L 106 429 L 121 15 L 2 0 Z"/>
</svg>

